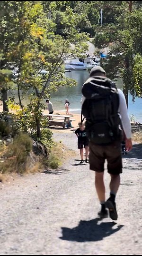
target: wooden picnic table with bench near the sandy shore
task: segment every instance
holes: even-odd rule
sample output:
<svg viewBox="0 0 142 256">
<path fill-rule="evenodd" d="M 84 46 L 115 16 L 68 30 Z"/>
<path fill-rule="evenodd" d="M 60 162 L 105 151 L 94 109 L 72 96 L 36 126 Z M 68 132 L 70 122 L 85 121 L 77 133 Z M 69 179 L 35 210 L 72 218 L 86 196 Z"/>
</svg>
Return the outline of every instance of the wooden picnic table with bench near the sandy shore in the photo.
<svg viewBox="0 0 142 256">
<path fill-rule="evenodd" d="M 70 118 L 72 118 L 73 115 L 43 114 L 43 117 L 49 118 L 49 126 L 62 126 L 63 128 L 72 127 Z"/>
</svg>

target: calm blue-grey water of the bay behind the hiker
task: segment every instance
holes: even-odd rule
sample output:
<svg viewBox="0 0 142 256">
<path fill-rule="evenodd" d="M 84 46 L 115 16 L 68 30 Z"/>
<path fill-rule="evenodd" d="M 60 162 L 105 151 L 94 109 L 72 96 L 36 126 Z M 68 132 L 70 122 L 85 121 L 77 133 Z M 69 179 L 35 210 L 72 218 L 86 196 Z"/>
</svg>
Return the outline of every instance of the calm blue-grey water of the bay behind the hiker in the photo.
<svg viewBox="0 0 142 256">
<path fill-rule="evenodd" d="M 81 87 L 84 81 L 88 79 L 89 72 L 87 70 L 72 70 L 71 72 L 65 72 L 65 77 L 75 79 L 78 85 L 74 87 L 62 87 L 57 92 L 54 92 L 51 95 L 53 108 L 64 112 L 64 102 L 65 99 L 68 98 L 71 103 L 70 112 L 80 114 Z M 118 80 L 116 85 L 118 88 L 122 89 L 123 84 L 121 80 Z M 133 103 L 132 96 L 129 94 L 128 112 L 129 117 L 133 115 L 136 121 L 142 123 L 142 98 L 135 98 L 135 102 Z"/>
</svg>

